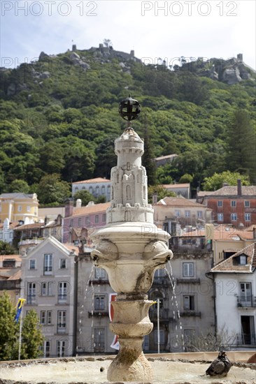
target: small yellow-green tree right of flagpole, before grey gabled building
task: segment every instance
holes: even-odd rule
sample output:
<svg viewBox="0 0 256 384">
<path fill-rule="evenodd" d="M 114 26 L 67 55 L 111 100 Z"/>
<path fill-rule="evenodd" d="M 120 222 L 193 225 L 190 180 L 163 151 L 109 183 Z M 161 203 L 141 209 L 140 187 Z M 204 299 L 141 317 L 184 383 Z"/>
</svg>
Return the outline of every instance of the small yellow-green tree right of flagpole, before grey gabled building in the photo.
<svg viewBox="0 0 256 384">
<path fill-rule="evenodd" d="M 39 318 L 34 309 L 29 311 L 22 323 L 22 359 L 36 359 L 42 355 L 43 334 Z"/>
</svg>

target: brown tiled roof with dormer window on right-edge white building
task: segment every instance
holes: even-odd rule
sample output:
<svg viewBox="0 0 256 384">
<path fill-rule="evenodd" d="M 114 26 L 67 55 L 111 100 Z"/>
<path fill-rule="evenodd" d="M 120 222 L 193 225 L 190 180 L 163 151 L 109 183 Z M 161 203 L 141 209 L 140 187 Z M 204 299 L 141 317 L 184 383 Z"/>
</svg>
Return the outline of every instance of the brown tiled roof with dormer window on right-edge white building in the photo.
<svg viewBox="0 0 256 384">
<path fill-rule="evenodd" d="M 246 265 L 241 265 L 239 263 L 234 262 L 234 259 L 236 259 L 240 255 L 248 256 Z M 234 253 L 234 255 L 230 256 L 226 260 L 221 261 L 211 269 L 211 272 L 253 273 L 255 268 L 256 268 L 256 242 L 246 246 L 246 248 L 241 249 L 241 251 Z"/>
</svg>

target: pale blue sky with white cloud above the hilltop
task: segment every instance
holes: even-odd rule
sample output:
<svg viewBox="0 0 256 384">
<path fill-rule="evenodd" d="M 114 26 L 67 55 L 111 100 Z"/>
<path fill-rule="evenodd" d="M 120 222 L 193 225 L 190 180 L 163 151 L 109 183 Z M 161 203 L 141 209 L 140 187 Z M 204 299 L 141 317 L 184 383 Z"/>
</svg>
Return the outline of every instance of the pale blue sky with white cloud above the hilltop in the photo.
<svg viewBox="0 0 256 384">
<path fill-rule="evenodd" d="M 15 68 L 47 54 L 98 47 L 168 65 L 178 57 L 229 59 L 256 68 L 255 0 L 0 0 L 1 64 Z"/>
</svg>

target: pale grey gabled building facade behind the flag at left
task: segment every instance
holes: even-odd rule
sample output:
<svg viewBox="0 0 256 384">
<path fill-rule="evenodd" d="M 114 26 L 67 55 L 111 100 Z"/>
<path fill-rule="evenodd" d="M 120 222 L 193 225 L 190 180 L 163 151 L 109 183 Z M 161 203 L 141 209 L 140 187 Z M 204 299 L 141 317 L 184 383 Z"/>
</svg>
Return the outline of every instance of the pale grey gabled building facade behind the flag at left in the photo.
<svg viewBox="0 0 256 384">
<path fill-rule="evenodd" d="M 23 313 L 34 309 L 40 319 L 44 357 L 74 354 L 77 255 L 77 247 L 48 237 L 22 256 Z"/>
</svg>

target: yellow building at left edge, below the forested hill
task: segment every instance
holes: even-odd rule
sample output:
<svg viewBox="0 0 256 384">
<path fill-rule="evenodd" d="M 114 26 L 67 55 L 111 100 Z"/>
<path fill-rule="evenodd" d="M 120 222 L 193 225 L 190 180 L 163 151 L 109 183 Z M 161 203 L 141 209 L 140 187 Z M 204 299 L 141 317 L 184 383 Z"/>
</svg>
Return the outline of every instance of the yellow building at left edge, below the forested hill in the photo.
<svg viewBox="0 0 256 384">
<path fill-rule="evenodd" d="M 25 224 L 38 221 L 38 200 L 36 193 L 2 193 L 0 195 L 0 223 L 24 221 Z"/>
</svg>

